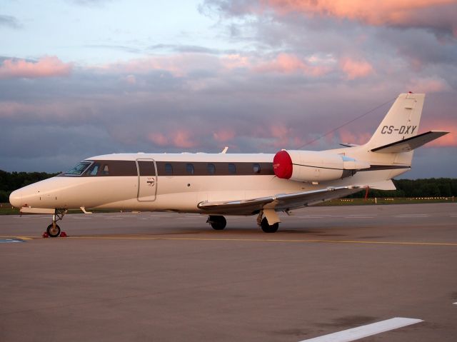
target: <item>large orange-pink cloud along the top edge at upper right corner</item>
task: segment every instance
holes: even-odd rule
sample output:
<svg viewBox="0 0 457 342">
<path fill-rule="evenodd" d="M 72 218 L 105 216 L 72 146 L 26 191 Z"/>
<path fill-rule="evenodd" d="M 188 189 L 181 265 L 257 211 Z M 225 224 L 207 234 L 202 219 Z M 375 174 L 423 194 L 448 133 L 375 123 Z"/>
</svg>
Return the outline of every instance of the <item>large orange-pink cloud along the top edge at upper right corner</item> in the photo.
<svg viewBox="0 0 457 342">
<path fill-rule="evenodd" d="M 374 26 L 419 26 L 441 28 L 456 36 L 457 25 L 448 6 L 455 0 L 260 0 L 261 9 L 272 8 L 280 15 L 302 12 L 361 21 Z"/>
</svg>

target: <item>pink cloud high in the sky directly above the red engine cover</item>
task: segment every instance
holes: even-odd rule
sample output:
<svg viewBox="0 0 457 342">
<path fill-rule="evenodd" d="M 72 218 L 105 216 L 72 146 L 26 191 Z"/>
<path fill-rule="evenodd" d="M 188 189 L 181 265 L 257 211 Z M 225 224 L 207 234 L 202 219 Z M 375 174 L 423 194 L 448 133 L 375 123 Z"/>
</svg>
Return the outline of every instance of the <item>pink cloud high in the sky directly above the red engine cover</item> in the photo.
<svg viewBox="0 0 457 342">
<path fill-rule="evenodd" d="M 293 74 L 301 71 L 310 76 L 321 76 L 326 74 L 329 69 L 326 66 L 312 66 L 293 54 L 278 54 L 272 61 L 266 61 L 254 67 L 253 71 L 260 73 L 276 72 L 281 74 Z"/>
</svg>

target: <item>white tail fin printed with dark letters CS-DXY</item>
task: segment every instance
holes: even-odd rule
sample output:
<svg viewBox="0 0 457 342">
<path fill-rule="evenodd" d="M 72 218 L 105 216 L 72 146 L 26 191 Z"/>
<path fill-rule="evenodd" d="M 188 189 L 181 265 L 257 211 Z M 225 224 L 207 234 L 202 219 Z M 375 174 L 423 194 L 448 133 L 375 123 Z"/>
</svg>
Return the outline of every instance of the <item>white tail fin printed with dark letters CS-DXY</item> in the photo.
<svg viewBox="0 0 457 342">
<path fill-rule="evenodd" d="M 373 150 L 418 134 L 425 94 L 400 94 L 366 144 Z"/>
</svg>

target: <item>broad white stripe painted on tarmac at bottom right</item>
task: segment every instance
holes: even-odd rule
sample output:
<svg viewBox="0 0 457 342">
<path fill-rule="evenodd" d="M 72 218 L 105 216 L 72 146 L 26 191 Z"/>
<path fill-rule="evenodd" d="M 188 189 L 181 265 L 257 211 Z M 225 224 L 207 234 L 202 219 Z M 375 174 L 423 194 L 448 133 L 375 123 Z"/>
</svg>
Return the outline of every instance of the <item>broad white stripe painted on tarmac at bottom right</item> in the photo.
<svg viewBox="0 0 457 342">
<path fill-rule="evenodd" d="M 328 335 L 318 336 L 318 337 L 310 338 L 308 340 L 303 340 L 300 342 L 355 341 L 355 340 L 358 340 L 359 338 L 376 335 L 376 333 L 385 333 L 386 331 L 403 328 L 403 326 L 411 326 L 411 324 L 416 324 L 416 323 L 420 323 L 420 322 L 423 322 L 423 320 L 416 319 L 416 318 L 395 317 L 395 318 L 391 318 L 391 319 L 386 319 L 386 321 L 371 323 L 371 324 L 367 324 L 366 326 L 358 326 L 357 328 L 351 328 L 348 330 L 338 331 L 337 333 L 329 333 Z"/>
</svg>

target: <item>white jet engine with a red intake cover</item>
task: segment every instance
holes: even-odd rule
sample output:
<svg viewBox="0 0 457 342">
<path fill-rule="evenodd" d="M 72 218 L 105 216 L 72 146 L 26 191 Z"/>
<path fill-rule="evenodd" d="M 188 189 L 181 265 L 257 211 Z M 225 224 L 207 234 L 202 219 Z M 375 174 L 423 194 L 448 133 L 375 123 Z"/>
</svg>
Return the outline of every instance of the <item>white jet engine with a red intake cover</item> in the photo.
<svg viewBox="0 0 457 342">
<path fill-rule="evenodd" d="M 273 170 L 278 178 L 293 181 L 335 181 L 368 169 L 366 161 L 318 151 L 279 151 L 273 158 Z"/>
</svg>

